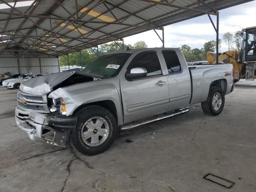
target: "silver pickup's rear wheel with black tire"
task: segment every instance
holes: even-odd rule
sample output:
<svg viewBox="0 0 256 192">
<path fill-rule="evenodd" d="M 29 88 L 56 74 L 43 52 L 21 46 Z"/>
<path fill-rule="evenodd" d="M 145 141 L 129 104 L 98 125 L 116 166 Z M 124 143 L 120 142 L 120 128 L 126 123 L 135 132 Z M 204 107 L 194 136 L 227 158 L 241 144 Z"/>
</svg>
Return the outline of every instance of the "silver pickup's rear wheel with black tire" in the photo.
<svg viewBox="0 0 256 192">
<path fill-rule="evenodd" d="M 218 100 L 216 100 L 216 97 L 218 96 Z M 214 98 L 215 97 L 215 98 Z M 221 100 L 221 103 L 220 103 Z M 225 96 L 222 88 L 219 86 L 210 86 L 208 98 L 205 102 L 201 103 L 202 110 L 205 114 L 211 115 L 211 116 L 217 116 L 219 115 L 223 108 L 225 103 Z"/>
</svg>

